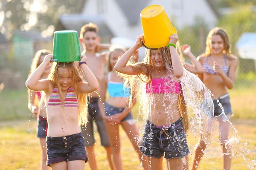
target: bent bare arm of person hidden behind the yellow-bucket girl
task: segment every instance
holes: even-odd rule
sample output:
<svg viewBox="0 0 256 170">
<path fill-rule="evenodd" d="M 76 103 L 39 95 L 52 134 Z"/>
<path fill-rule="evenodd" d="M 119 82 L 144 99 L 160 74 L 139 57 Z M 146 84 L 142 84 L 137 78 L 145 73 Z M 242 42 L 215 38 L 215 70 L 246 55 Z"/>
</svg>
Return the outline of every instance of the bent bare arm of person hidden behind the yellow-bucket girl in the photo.
<svg viewBox="0 0 256 170">
<path fill-rule="evenodd" d="M 192 65 L 186 62 L 186 69 L 193 74 L 201 74 L 204 72 L 204 68 L 201 63 L 196 59 L 194 54 L 191 52 L 191 48 L 189 45 L 182 46 L 182 52 L 189 58 L 192 62 Z"/>
</svg>

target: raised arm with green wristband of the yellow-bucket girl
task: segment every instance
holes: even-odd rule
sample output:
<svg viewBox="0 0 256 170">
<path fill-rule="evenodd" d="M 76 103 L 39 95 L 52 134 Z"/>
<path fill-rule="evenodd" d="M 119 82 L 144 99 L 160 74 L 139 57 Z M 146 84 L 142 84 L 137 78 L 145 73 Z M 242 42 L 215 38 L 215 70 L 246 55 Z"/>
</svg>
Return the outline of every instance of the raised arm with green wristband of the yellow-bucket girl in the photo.
<svg viewBox="0 0 256 170">
<path fill-rule="evenodd" d="M 176 42 L 179 40 L 177 34 L 172 34 L 170 36 L 169 43 L 176 44 Z M 177 50 L 174 46 L 170 45 L 169 47 L 171 57 L 172 57 L 172 67 L 173 67 L 173 75 L 177 78 L 181 77 L 183 75 L 183 67 L 180 62 L 180 58 L 178 56 Z"/>
</svg>

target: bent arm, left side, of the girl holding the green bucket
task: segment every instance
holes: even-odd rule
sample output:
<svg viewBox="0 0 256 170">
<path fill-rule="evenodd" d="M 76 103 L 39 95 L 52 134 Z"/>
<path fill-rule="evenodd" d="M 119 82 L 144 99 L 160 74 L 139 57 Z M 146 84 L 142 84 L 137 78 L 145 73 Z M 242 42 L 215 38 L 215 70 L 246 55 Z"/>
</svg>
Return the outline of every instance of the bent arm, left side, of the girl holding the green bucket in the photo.
<svg viewBox="0 0 256 170">
<path fill-rule="evenodd" d="M 48 54 L 44 57 L 44 61 L 39 65 L 35 71 L 30 74 L 29 78 L 26 80 L 26 87 L 32 91 L 48 91 L 49 80 L 41 79 L 42 74 L 44 73 L 45 68 L 51 62 L 52 55 Z"/>
</svg>

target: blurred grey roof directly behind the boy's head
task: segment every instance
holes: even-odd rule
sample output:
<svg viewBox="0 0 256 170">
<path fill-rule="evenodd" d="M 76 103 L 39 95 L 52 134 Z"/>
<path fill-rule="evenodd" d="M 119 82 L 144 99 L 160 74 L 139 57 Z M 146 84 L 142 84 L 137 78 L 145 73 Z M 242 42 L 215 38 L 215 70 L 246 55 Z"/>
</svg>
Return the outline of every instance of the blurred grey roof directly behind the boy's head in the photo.
<svg viewBox="0 0 256 170">
<path fill-rule="evenodd" d="M 55 31 L 59 30 L 76 30 L 78 34 L 82 26 L 87 23 L 95 23 L 99 28 L 99 36 L 111 35 L 113 33 L 108 28 L 105 23 L 105 19 L 102 16 L 88 16 L 83 14 L 69 14 L 69 15 L 62 15 L 59 18 L 59 22 L 55 27 Z"/>
</svg>

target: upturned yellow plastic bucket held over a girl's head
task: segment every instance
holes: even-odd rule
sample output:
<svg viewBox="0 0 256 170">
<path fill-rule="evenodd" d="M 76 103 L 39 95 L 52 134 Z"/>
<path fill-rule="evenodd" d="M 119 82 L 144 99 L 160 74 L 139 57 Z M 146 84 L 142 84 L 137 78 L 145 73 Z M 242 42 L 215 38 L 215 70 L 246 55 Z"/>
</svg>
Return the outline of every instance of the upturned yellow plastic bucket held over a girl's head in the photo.
<svg viewBox="0 0 256 170">
<path fill-rule="evenodd" d="M 163 6 L 152 5 L 144 8 L 140 19 L 146 48 L 161 48 L 168 45 L 169 37 L 177 33 Z"/>
</svg>

